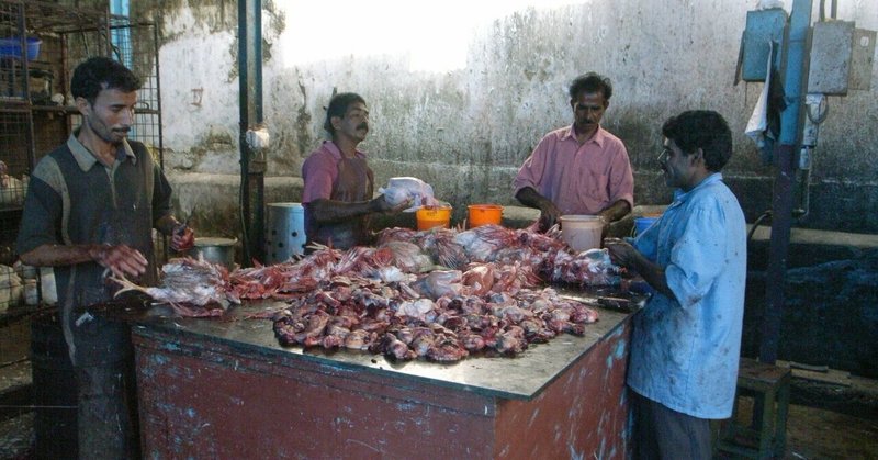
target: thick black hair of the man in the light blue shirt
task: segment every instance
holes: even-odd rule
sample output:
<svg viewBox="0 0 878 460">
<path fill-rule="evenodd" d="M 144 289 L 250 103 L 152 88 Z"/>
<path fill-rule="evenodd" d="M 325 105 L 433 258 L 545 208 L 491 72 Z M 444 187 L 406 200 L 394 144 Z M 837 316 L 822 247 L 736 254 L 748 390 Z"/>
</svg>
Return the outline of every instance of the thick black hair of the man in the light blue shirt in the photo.
<svg viewBox="0 0 878 460">
<path fill-rule="evenodd" d="M 662 125 L 662 135 L 686 155 L 700 148 L 707 169 L 713 172 L 721 171 L 732 157 L 732 132 L 725 119 L 712 110 L 689 110 L 672 116 Z"/>
</svg>

